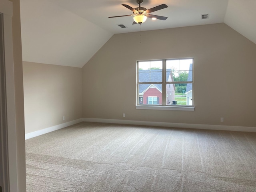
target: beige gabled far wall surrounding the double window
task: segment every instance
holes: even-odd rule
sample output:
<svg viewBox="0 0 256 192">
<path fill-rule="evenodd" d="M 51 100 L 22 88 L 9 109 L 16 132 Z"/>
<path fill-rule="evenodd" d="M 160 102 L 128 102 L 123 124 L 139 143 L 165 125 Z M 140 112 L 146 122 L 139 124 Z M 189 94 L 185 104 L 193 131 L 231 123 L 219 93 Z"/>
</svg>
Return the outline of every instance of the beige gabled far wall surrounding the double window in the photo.
<svg viewBox="0 0 256 192">
<path fill-rule="evenodd" d="M 115 34 L 82 68 L 83 117 L 256 127 L 255 53 L 223 23 Z M 186 57 L 195 111 L 136 110 L 136 60 Z"/>
</svg>

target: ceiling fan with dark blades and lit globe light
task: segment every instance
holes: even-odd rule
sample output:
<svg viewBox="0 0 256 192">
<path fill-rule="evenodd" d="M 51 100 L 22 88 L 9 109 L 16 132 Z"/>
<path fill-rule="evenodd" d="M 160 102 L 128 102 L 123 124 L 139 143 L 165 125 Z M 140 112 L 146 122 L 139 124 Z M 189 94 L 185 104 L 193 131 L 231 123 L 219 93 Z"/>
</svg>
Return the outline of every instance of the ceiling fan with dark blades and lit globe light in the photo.
<svg viewBox="0 0 256 192">
<path fill-rule="evenodd" d="M 134 22 L 132 24 L 137 24 L 137 23 L 138 24 L 142 24 L 143 22 L 146 21 L 147 17 L 151 18 L 152 20 L 156 20 L 156 19 L 166 20 L 167 19 L 167 17 L 164 17 L 164 16 L 158 16 L 158 15 L 149 14 L 151 12 L 167 8 L 166 4 L 158 5 L 156 7 L 151 8 L 151 9 L 146 9 L 146 8 L 140 6 L 143 3 L 143 0 L 137 0 L 136 2 L 139 5 L 136 8 L 132 8 L 131 6 L 126 5 L 126 4 L 122 4 L 122 6 L 125 6 L 126 8 L 132 10 L 133 14 L 131 14 L 131 15 L 113 16 L 113 17 L 108 17 L 108 18 L 134 16 L 133 17 Z"/>
</svg>

